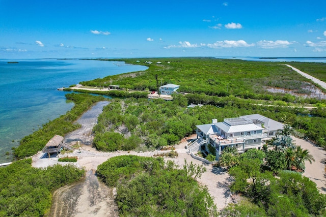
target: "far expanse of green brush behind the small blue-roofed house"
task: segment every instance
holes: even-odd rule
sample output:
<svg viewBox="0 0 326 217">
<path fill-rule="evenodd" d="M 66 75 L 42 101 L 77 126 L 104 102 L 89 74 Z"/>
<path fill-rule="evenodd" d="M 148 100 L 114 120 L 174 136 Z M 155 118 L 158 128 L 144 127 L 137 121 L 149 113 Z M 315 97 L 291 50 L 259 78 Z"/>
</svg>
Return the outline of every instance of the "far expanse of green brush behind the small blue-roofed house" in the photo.
<svg viewBox="0 0 326 217">
<path fill-rule="evenodd" d="M 100 59 L 113 60 L 113 59 Z M 114 59 L 129 64 L 146 65 L 146 71 L 107 76 L 80 82 L 89 86 L 108 86 L 113 80 L 120 87 L 132 90 L 158 90 L 167 83 L 180 85 L 178 91 L 209 96 L 235 96 L 244 99 L 282 100 L 296 103 L 316 103 L 315 99 L 296 99 L 291 95 L 272 93 L 267 87 L 302 91 L 310 80 L 293 73 L 282 63 L 253 62 L 215 58 L 149 58 Z M 161 64 L 146 64 L 146 61 Z M 321 68 L 324 65 L 318 65 Z"/>
</svg>

